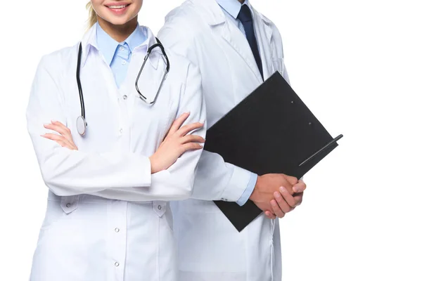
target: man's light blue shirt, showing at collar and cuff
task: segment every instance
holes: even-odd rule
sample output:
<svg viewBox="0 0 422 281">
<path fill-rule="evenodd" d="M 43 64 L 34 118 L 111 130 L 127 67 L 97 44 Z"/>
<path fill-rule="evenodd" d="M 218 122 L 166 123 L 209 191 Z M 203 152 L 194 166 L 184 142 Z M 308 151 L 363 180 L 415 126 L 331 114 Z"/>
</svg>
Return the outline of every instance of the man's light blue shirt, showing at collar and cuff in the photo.
<svg viewBox="0 0 422 281">
<path fill-rule="evenodd" d="M 242 5 L 248 5 L 250 8 L 250 11 L 253 13 L 252 8 L 250 7 L 250 4 L 248 3 L 248 0 L 245 0 L 243 4 L 239 2 L 238 0 L 216 0 L 220 7 L 222 7 L 222 10 L 224 14 L 226 15 L 226 18 L 228 20 L 231 20 L 234 25 L 236 25 L 241 32 L 243 32 L 243 35 L 246 37 L 245 28 L 243 27 L 243 24 L 240 20 L 237 19 L 237 16 L 239 12 L 241 11 Z M 236 202 L 238 205 L 243 206 L 249 199 L 250 195 L 252 194 L 255 185 L 257 184 L 258 176 L 257 174 L 250 173 L 250 179 L 248 186 L 246 186 L 245 191 L 243 192 L 241 198 Z"/>
</svg>

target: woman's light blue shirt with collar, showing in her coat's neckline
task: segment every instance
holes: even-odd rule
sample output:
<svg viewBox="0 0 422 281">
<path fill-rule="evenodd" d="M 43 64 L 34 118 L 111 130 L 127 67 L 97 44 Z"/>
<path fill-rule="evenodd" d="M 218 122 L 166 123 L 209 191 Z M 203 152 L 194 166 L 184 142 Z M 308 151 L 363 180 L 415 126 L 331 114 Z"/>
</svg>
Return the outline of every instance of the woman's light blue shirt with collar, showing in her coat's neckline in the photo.
<svg viewBox="0 0 422 281">
<path fill-rule="evenodd" d="M 132 51 L 137 46 L 143 44 L 147 37 L 143 34 L 141 27 L 138 25 L 126 40 L 119 43 L 111 38 L 110 35 L 101 28 L 98 22 L 96 23 L 96 36 L 99 51 L 106 60 L 106 63 L 110 65 L 117 88 L 120 88 L 124 78 L 126 78 L 127 69 L 130 60 L 132 59 Z"/>
</svg>

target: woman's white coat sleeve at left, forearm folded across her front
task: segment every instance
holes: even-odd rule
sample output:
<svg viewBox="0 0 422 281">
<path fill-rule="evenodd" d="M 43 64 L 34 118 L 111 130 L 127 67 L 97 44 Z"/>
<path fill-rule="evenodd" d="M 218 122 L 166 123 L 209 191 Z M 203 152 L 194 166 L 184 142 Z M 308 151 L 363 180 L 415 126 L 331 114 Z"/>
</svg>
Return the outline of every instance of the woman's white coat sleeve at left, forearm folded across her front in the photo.
<svg viewBox="0 0 422 281">
<path fill-rule="evenodd" d="M 32 83 L 27 105 L 27 129 L 41 175 L 56 195 L 91 193 L 106 188 L 151 185 L 151 163 L 148 157 L 120 152 L 87 153 L 62 148 L 56 142 L 41 137 L 44 124 L 58 120 L 66 124 L 62 93 L 41 60 Z"/>
</svg>

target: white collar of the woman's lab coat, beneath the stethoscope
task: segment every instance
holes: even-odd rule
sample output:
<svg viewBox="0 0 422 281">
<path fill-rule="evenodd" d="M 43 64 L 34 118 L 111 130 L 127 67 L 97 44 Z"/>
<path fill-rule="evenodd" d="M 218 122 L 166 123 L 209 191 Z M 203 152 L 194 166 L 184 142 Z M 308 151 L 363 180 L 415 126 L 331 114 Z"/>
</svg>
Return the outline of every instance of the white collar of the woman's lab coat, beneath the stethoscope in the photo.
<svg viewBox="0 0 422 281">
<path fill-rule="evenodd" d="M 140 46 L 136 46 L 132 52 L 136 53 L 136 51 L 139 48 L 149 48 L 150 46 L 153 46 L 153 44 L 157 44 L 157 39 L 155 39 L 155 36 L 151 29 L 149 27 L 145 26 L 139 26 L 139 29 L 141 32 L 143 32 L 144 37 L 146 38 L 146 41 L 144 41 L 143 44 Z M 96 48 L 98 50 L 98 44 L 96 40 L 96 25 L 92 26 L 87 33 L 84 34 L 84 37 L 82 37 L 82 58 L 81 58 L 81 67 L 84 67 L 85 63 L 87 62 L 87 58 L 89 53 L 91 52 L 91 48 Z M 153 53 L 158 51 L 158 49 L 154 49 Z M 151 65 L 155 68 L 155 70 L 158 68 L 158 63 L 160 61 L 160 55 L 151 55 L 150 58 L 148 58 Z"/>
</svg>

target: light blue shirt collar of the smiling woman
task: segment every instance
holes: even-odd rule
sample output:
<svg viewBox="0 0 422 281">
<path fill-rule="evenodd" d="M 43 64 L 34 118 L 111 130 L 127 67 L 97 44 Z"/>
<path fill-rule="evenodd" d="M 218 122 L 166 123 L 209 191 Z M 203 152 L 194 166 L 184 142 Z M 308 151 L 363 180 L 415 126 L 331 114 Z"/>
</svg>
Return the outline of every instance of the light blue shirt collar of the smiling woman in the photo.
<svg viewBox="0 0 422 281">
<path fill-rule="evenodd" d="M 98 24 L 96 23 L 96 36 L 97 36 L 97 44 L 98 49 L 103 54 L 104 58 L 106 59 L 106 63 L 111 65 L 113 58 L 115 56 L 115 52 L 117 46 L 119 46 L 119 42 L 115 41 L 115 39 L 111 38 Z M 146 35 L 143 34 L 142 29 L 139 25 L 136 26 L 136 29 L 132 34 L 127 37 L 124 42 L 129 46 L 129 51 L 132 53 L 134 48 L 140 46 L 145 42 L 147 39 Z M 123 42 L 122 42 L 123 43 Z"/>
</svg>

